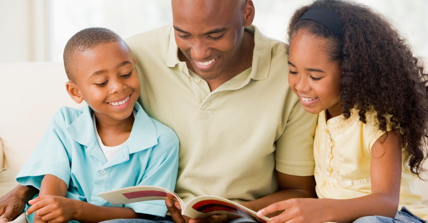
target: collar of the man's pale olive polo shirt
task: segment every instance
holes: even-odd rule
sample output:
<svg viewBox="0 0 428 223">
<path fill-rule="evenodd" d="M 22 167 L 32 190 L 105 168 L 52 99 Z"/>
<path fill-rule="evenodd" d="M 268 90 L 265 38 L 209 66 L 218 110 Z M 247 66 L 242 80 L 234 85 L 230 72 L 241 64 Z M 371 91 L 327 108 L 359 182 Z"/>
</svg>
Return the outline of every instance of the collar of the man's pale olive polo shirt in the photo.
<svg viewBox="0 0 428 223">
<path fill-rule="evenodd" d="M 266 37 L 255 25 L 246 26 L 245 29 L 254 33 L 253 63 L 250 78 L 260 80 L 268 77 L 272 52 L 270 39 Z M 174 67 L 180 62 L 178 59 L 178 46 L 175 43 L 174 28 L 171 26 L 169 33 L 169 46 L 166 54 L 166 66 Z M 284 61 L 286 62 L 286 61 Z"/>
</svg>

